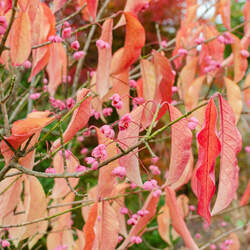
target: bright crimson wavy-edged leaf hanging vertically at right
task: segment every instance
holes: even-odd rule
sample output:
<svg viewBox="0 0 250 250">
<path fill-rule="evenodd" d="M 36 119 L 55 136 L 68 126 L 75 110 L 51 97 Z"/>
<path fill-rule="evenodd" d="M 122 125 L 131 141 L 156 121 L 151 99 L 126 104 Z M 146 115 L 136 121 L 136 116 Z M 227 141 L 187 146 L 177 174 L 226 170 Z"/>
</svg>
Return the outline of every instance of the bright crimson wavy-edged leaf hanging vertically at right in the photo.
<svg viewBox="0 0 250 250">
<path fill-rule="evenodd" d="M 220 141 L 216 135 L 217 110 L 210 99 L 205 114 L 205 124 L 197 136 L 199 143 L 198 162 L 194 173 L 193 191 L 198 197 L 198 214 L 208 223 L 211 221 L 210 202 L 215 192 L 214 166 L 220 153 Z"/>
</svg>

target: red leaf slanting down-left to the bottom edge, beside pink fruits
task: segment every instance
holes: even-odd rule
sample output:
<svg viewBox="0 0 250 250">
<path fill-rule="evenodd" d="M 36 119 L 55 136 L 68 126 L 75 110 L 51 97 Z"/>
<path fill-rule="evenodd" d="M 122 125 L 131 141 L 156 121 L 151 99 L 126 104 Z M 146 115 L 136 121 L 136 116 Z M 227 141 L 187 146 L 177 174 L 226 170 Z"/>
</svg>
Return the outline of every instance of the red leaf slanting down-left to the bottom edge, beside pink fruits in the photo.
<svg viewBox="0 0 250 250">
<path fill-rule="evenodd" d="M 156 213 L 158 202 L 159 197 L 154 197 L 152 193 L 147 197 L 147 200 L 145 201 L 142 209 L 147 210 L 149 213 L 138 219 L 137 224 L 130 229 L 129 235 L 124 240 L 122 245 L 118 248 L 118 250 L 125 249 L 130 243 L 130 239 L 132 236 L 141 236 L 145 232 L 148 223 Z"/>
</svg>

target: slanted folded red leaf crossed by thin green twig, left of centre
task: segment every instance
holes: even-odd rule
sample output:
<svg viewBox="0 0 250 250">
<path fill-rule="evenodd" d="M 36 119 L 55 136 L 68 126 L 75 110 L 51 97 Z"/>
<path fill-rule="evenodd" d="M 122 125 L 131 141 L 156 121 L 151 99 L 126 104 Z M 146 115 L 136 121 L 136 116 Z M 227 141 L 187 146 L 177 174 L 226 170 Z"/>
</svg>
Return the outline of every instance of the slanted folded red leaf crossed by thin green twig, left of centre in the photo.
<svg viewBox="0 0 250 250">
<path fill-rule="evenodd" d="M 88 89 L 81 89 L 77 92 L 77 103 L 82 101 L 88 95 Z M 91 113 L 91 97 L 87 97 L 77 108 L 71 118 L 67 129 L 63 133 L 63 142 L 70 141 L 74 135 L 87 124 Z M 60 139 L 57 139 L 52 149 L 56 149 L 61 145 Z"/>
</svg>

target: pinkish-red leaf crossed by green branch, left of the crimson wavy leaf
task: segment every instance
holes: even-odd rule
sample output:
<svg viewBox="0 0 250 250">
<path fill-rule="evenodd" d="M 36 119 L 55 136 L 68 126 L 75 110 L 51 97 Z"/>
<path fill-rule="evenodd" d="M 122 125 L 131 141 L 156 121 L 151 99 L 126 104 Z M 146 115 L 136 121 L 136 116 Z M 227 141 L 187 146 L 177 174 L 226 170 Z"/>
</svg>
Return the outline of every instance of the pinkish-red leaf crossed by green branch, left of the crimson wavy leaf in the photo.
<svg viewBox="0 0 250 250">
<path fill-rule="evenodd" d="M 170 120 L 174 121 L 182 113 L 174 106 L 168 104 Z M 181 119 L 171 126 L 171 158 L 167 185 L 174 184 L 182 176 L 189 159 L 192 157 L 192 132 L 188 128 L 188 120 Z"/>
</svg>

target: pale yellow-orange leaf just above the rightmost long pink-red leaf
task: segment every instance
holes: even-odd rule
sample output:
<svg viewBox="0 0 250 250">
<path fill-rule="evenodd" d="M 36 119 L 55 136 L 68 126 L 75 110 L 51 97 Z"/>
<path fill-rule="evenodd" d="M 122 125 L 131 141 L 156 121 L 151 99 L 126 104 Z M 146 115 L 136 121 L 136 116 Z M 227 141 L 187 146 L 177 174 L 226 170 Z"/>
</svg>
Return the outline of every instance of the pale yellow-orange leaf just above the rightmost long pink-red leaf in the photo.
<svg viewBox="0 0 250 250">
<path fill-rule="evenodd" d="M 243 106 L 241 90 L 240 87 L 229 78 L 224 77 L 224 81 L 227 89 L 227 101 L 234 112 L 235 123 L 237 124 L 240 119 L 240 114 Z"/>
</svg>

